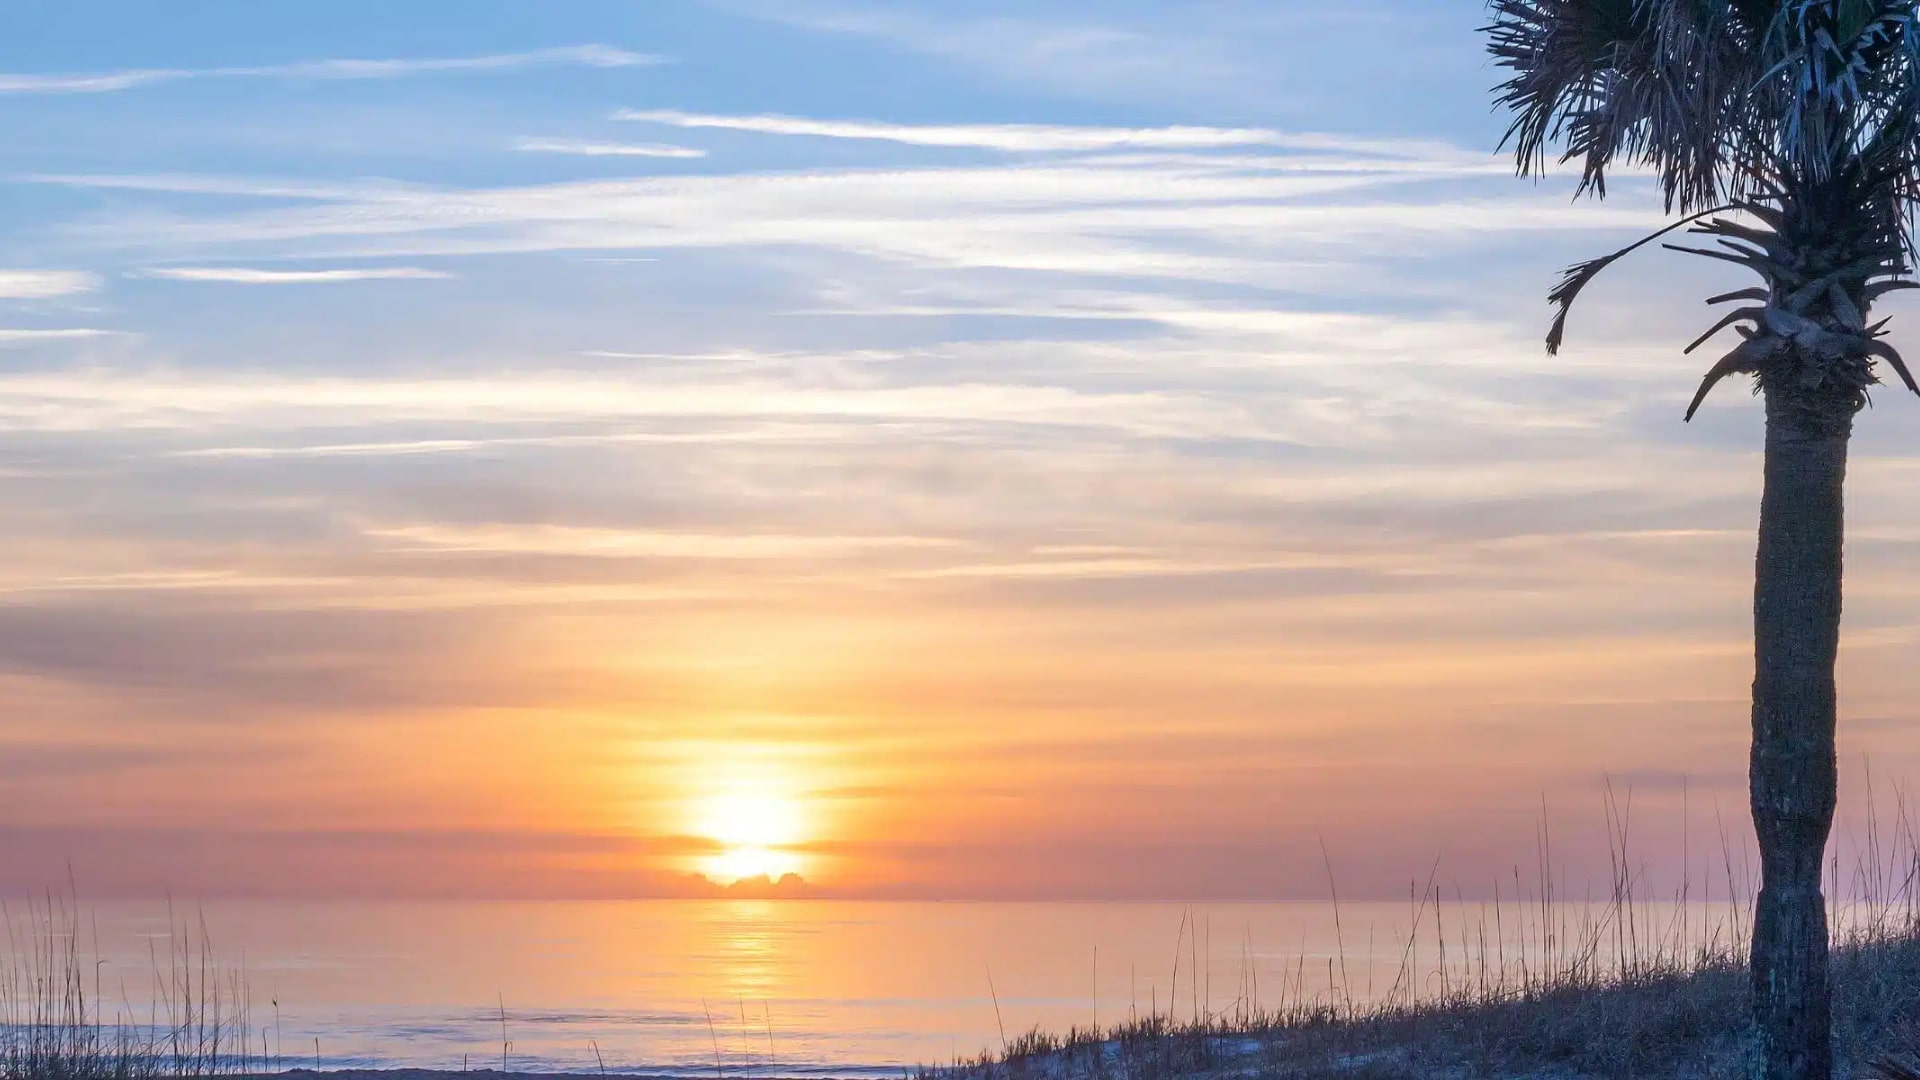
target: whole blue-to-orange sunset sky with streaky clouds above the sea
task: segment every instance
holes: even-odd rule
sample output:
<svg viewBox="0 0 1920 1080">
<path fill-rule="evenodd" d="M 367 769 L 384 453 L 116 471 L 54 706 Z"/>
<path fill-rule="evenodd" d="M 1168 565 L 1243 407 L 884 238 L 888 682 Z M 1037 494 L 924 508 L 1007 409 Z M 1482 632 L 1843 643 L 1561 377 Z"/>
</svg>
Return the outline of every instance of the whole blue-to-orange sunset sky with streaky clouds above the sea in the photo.
<svg viewBox="0 0 1920 1080">
<path fill-rule="evenodd" d="M 1544 354 L 1661 206 L 1513 177 L 1482 17 L 6 6 L 0 890 L 1484 894 L 1609 792 L 1709 874 L 1741 282 Z M 1920 763 L 1876 405 L 1843 832 Z"/>
</svg>

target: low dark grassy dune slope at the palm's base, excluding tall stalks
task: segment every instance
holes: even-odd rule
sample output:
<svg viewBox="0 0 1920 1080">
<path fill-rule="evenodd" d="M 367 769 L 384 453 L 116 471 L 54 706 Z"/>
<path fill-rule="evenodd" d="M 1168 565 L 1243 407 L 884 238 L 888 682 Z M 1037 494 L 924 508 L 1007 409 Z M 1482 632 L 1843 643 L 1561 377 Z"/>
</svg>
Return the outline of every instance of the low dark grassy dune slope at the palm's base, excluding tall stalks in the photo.
<svg viewBox="0 0 1920 1080">
<path fill-rule="evenodd" d="M 1920 934 L 1841 944 L 1834 990 L 1841 1076 L 1920 1059 Z M 1617 978 L 1471 986 L 1413 1005 L 1323 1003 L 1027 1032 L 1002 1051 L 920 1070 L 920 1080 L 1736 1080 L 1749 1076 L 1745 1017 L 1745 957 L 1724 949 Z"/>
</svg>

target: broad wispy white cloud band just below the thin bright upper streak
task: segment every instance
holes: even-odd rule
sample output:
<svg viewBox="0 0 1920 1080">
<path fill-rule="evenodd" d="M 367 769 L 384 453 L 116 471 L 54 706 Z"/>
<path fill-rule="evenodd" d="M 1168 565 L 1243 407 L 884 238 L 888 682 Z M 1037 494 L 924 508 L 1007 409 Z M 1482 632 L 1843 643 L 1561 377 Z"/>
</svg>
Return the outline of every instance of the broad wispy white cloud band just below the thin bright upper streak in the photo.
<svg viewBox="0 0 1920 1080">
<path fill-rule="evenodd" d="M 998 138 L 983 131 L 981 140 Z M 1027 135 L 1008 138 L 1039 144 Z M 1052 144 L 1066 142 L 1060 136 Z M 156 194 L 288 190 L 280 181 L 232 177 L 54 183 Z M 313 206 L 182 204 L 163 215 L 129 215 L 77 231 L 182 261 L 190 258 L 182 252 L 207 248 L 227 258 L 275 259 L 812 248 L 927 271 L 1154 277 L 1325 292 L 1384 284 L 1379 273 L 1365 279 L 1329 273 L 1329 263 L 1357 265 L 1392 254 L 1398 259 L 1392 269 L 1407 258 L 1501 234 L 1626 229 L 1659 219 L 1657 208 L 1634 198 L 1603 208 L 1567 206 L 1551 196 L 1496 198 L 1463 183 L 1490 183 L 1484 158 L 1457 150 L 1428 158 L 1346 152 L 1331 160 L 1302 152 L 1223 161 L 1167 152 L 511 188 L 365 184 L 309 192 Z"/>
</svg>

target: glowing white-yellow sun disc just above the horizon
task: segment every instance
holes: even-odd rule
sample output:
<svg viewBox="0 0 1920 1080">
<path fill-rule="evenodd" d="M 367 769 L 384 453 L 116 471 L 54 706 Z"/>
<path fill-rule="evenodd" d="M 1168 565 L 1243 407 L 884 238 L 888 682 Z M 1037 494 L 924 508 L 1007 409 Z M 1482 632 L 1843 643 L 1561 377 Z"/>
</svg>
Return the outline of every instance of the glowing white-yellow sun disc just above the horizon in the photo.
<svg viewBox="0 0 1920 1080">
<path fill-rule="evenodd" d="M 699 871 L 720 884 L 797 874 L 804 859 L 795 849 L 808 836 L 806 807 L 785 776 L 770 769 L 733 769 L 697 796 L 693 834 L 718 849 L 699 859 Z"/>
</svg>

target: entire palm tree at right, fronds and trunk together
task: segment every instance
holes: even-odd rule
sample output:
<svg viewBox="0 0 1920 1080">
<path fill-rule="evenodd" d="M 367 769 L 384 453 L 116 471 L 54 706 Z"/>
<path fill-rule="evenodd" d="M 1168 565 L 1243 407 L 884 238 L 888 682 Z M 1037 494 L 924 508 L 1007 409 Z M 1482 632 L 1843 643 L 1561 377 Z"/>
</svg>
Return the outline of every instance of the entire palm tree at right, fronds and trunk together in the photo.
<svg viewBox="0 0 1920 1080">
<path fill-rule="evenodd" d="M 1841 482 L 1853 417 L 1885 361 L 1870 321 L 1907 279 L 1920 196 L 1916 0 L 1492 0 L 1488 48 L 1507 81 L 1507 146 L 1523 175 L 1578 161 L 1582 194 L 1617 167 L 1651 173 L 1678 215 L 1578 263 L 1549 294 L 1557 352 L 1580 290 L 1620 256 L 1668 248 L 1728 261 L 1759 284 L 1688 346 L 1736 329 L 1699 384 L 1749 375 L 1766 400 L 1753 588 L 1753 1019 L 1766 1080 L 1832 1074 L 1828 922 L 1820 865 L 1834 822 L 1834 655 L 1839 648 Z"/>
</svg>

